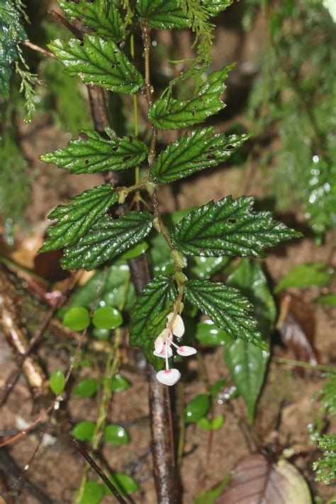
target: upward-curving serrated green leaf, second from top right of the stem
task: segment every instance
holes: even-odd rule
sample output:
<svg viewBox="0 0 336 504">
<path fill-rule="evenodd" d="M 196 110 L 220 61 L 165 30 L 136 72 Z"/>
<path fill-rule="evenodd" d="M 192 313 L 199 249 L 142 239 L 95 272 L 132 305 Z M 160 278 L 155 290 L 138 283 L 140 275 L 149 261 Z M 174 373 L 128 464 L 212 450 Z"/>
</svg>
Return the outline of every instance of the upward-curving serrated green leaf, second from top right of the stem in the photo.
<svg viewBox="0 0 336 504">
<path fill-rule="evenodd" d="M 179 101 L 166 92 L 150 108 L 150 122 L 159 130 L 176 130 L 203 123 L 225 107 L 220 95 L 225 89 L 224 81 L 230 69 L 231 66 L 210 74 L 190 100 Z"/>
</svg>

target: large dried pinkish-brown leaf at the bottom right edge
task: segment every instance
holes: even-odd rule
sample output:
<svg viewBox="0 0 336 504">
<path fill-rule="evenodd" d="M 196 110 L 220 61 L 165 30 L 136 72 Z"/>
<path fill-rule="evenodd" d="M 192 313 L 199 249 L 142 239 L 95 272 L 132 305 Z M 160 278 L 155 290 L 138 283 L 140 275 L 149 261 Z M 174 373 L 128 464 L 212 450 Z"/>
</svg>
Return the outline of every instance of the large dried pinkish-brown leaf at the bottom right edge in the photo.
<svg viewBox="0 0 336 504">
<path fill-rule="evenodd" d="M 311 504 L 308 485 L 293 464 L 262 454 L 241 459 L 216 504 Z"/>
</svg>

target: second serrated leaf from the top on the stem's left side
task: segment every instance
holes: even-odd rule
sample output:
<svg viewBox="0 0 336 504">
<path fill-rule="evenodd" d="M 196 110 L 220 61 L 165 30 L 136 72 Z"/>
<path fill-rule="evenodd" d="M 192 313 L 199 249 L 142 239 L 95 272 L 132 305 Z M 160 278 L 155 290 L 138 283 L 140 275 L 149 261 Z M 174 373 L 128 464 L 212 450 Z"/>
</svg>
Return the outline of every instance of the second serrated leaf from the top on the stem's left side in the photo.
<svg viewBox="0 0 336 504">
<path fill-rule="evenodd" d="M 113 40 L 84 35 L 83 41 L 57 39 L 48 47 L 65 65 L 65 72 L 80 77 L 84 84 L 119 93 L 136 93 L 143 84 L 142 75 Z"/>
</svg>

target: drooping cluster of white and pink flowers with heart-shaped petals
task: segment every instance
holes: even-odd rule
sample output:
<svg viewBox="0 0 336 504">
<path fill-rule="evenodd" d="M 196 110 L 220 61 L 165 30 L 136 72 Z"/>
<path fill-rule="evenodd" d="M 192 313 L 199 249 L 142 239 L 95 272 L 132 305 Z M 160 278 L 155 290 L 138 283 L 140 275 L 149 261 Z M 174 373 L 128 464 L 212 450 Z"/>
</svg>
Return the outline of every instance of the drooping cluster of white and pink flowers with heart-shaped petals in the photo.
<svg viewBox="0 0 336 504">
<path fill-rule="evenodd" d="M 189 357 L 189 355 L 196 354 L 196 348 L 188 347 L 186 345 L 179 347 L 174 343 L 173 338 L 176 336 L 180 338 L 184 335 L 184 323 L 181 315 L 169 313 L 167 316 L 167 325 L 165 329 L 159 334 L 154 342 L 155 351 L 153 352 L 156 357 L 166 359 L 166 369 L 157 373 L 157 380 L 164 385 L 175 385 L 181 378 L 179 369 L 169 369 L 169 357 L 172 357 L 172 347 L 177 348 L 177 354 L 182 357 Z"/>
</svg>

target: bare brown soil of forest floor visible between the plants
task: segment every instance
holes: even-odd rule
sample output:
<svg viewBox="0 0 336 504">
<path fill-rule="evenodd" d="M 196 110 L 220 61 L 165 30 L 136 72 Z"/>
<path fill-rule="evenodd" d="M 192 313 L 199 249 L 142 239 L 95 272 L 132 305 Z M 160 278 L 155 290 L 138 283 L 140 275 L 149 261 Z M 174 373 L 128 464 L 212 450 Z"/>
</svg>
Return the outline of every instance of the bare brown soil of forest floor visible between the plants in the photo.
<svg viewBox="0 0 336 504">
<path fill-rule="evenodd" d="M 259 26 L 248 40 L 242 43 L 240 34 L 227 28 L 218 28 L 218 45 L 215 47 L 215 66 L 223 66 L 230 61 L 237 61 L 238 67 L 242 63 L 256 62 L 257 51 L 261 45 L 262 30 Z M 224 43 L 225 41 L 225 43 Z M 221 47 L 230 50 L 221 51 Z M 256 63 L 257 64 L 257 63 Z M 236 120 L 233 117 L 233 120 Z M 226 123 L 218 123 L 218 131 L 223 130 Z M 41 121 L 38 125 L 30 125 L 22 132 L 22 147 L 30 162 L 30 169 L 37 176 L 33 184 L 32 201 L 26 211 L 26 219 L 30 232 L 18 237 L 17 245 L 11 251 L 10 257 L 25 267 L 33 268 L 36 250 L 40 246 L 45 228 L 46 216 L 57 204 L 65 198 L 79 194 L 84 189 L 101 184 L 99 174 L 92 176 L 74 177 L 54 166 L 41 163 L 37 155 L 55 150 L 64 145 L 68 138 L 48 123 Z M 162 189 L 162 211 L 189 208 L 190 206 L 206 203 L 211 199 L 219 199 L 228 194 L 237 196 L 244 184 L 243 167 L 223 167 L 215 171 L 200 174 L 172 189 Z M 249 184 L 249 194 L 257 198 L 269 196 L 262 174 L 256 172 Z M 313 236 L 308 232 L 303 215 L 281 215 L 296 228 L 306 231 L 305 237 L 293 243 L 272 250 L 263 261 L 271 285 L 279 280 L 296 264 L 302 262 L 326 262 L 330 267 L 336 267 L 336 257 L 332 256 L 334 238 L 327 235 L 323 246 L 316 246 Z M 9 255 L 9 252 L 6 252 Z M 335 289 L 334 289 L 335 290 Z M 335 310 L 311 303 L 320 292 L 317 288 L 301 291 L 293 289 L 291 293 L 300 296 L 313 311 L 315 319 L 314 346 L 320 355 L 320 363 L 336 363 Z M 278 305 L 280 300 L 277 300 Z M 58 367 L 65 369 L 69 362 L 69 352 L 73 347 L 63 346 L 55 351 L 55 347 L 44 341 L 38 349 L 38 357 L 43 363 L 47 374 Z M 290 350 L 282 349 L 283 357 L 295 358 Z M 223 349 L 204 349 L 205 364 L 211 383 L 220 376 L 228 376 L 228 370 L 223 363 Z M 6 380 L 13 368 L 15 359 L 4 335 L 0 334 L 0 386 Z M 106 464 L 116 471 L 135 474 L 138 481 L 142 481 L 140 491 L 133 494 L 133 502 L 156 502 L 155 488 L 152 478 L 152 461 L 150 456 L 150 426 L 147 404 L 147 382 L 142 363 L 137 360 L 133 349 L 123 352 L 121 370 L 131 386 L 128 391 L 116 393 L 109 411 L 110 420 L 121 423 L 128 422 L 130 443 L 122 447 L 103 447 L 101 457 Z M 87 369 L 80 371 L 79 377 L 87 376 Z M 91 376 L 91 375 L 90 375 Z M 185 400 L 188 402 L 197 393 L 203 393 L 203 384 L 194 379 L 196 364 L 191 361 L 185 383 Z M 257 439 L 258 447 L 279 446 L 293 451 L 297 455 L 294 463 L 300 469 L 310 485 L 314 496 L 327 500 L 335 494 L 335 487 L 327 487 L 323 483 L 315 483 L 312 470 L 313 460 L 319 457 L 316 443 L 310 439 L 308 425 L 315 421 L 318 415 L 318 391 L 325 379 L 319 371 L 305 370 L 302 374 L 294 372 L 292 366 L 271 361 L 267 372 L 267 380 L 257 408 L 257 417 L 251 430 Z M 230 378 L 228 378 L 230 386 Z M 67 391 L 69 394 L 69 391 Z M 21 376 L 9 395 L 8 401 L 0 411 L 0 430 L 20 430 L 35 420 L 45 404 L 35 402 L 30 393 L 26 379 Z M 194 497 L 202 490 L 201 482 L 204 471 L 207 476 L 205 487 L 211 488 L 224 476 L 230 474 L 233 466 L 244 455 L 250 453 L 251 447 L 246 443 L 241 428 L 241 420 L 245 418 L 245 406 L 240 399 L 236 399 L 233 408 L 229 408 L 226 401 L 218 400 L 215 405 L 215 415 L 225 415 L 225 425 L 214 432 L 211 457 L 206 457 L 208 449 L 208 432 L 196 425 L 187 427 L 186 444 L 181 470 L 181 481 L 184 491 L 183 502 L 193 503 Z M 46 495 L 58 503 L 71 503 L 74 491 L 78 488 L 84 462 L 69 441 L 68 432 L 75 422 L 80 420 L 95 420 L 96 406 L 94 399 L 81 399 L 68 395 L 60 414 L 55 415 L 43 428 L 50 436 L 40 447 L 33 464 L 25 477 Z M 9 453 L 21 471 L 32 456 L 38 440 L 42 436 L 43 428 L 39 427 L 33 433 L 21 437 L 9 447 Z M 255 449 L 255 447 L 252 449 Z M 206 467 L 205 467 L 206 464 Z M 6 464 L 5 464 L 6 465 Z M 4 460 L 0 460 L 0 469 L 4 471 Z M 11 471 L 11 486 L 18 490 L 17 504 L 38 504 L 40 500 L 33 497 L 24 480 L 18 478 L 15 471 Z M 1 482 L 0 482 L 1 483 Z M 1 486 L 0 486 L 1 488 Z M 104 497 L 103 504 L 114 502 L 111 497 Z"/>
</svg>

